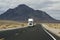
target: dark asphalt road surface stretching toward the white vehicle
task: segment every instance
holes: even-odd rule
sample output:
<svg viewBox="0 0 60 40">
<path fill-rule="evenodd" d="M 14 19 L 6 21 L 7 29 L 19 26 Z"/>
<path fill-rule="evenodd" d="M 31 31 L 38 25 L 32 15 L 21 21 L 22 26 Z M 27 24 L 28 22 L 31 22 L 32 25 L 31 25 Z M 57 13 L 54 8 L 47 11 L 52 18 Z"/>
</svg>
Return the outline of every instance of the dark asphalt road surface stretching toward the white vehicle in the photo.
<svg viewBox="0 0 60 40">
<path fill-rule="evenodd" d="M 41 25 L 20 28 L 0 32 L 0 38 L 4 40 L 53 40 L 42 28 Z"/>
</svg>

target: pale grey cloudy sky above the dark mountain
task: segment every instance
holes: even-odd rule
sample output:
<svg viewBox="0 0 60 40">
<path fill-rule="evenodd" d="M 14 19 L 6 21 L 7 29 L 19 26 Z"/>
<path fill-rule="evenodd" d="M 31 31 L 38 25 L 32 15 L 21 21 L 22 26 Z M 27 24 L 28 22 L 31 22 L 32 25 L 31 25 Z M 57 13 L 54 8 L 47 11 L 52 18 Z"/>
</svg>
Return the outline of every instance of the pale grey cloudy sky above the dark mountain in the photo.
<svg viewBox="0 0 60 40">
<path fill-rule="evenodd" d="M 0 14 L 20 4 L 26 4 L 35 10 L 45 11 L 54 19 L 60 20 L 60 0 L 0 0 Z"/>
</svg>

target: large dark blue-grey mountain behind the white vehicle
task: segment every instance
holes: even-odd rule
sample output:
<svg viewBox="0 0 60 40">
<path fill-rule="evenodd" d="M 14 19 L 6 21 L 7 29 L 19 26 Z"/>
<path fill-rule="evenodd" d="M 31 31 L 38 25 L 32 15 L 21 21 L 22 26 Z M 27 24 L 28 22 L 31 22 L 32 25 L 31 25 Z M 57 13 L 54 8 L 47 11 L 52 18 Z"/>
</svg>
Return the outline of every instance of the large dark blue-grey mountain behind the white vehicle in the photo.
<svg viewBox="0 0 60 40">
<path fill-rule="evenodd" d="M 28 18 L 33 18 L 36 22 L 56 22 L 46 12 L 34 10 L 25 4 L 21 4 L 14 9 L 8 9 L 0 15 L 1 20 L 27 21 Z"/>
</svg>

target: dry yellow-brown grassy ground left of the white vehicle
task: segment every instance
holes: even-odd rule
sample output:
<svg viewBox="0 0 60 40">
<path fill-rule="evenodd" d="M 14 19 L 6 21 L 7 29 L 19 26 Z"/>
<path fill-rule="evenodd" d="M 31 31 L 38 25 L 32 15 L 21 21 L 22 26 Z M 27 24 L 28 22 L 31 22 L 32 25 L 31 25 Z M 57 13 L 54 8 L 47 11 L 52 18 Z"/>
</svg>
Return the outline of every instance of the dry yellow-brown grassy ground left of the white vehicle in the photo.
<svg viewBox="0 0 60 40">
<path fill-rule="evenodd" d="M 21 27 L 24 27 L 26 25 L 27 25 L 27 23 L 0 20 L 0 29 L 17 28 L 17 27 L 21 28 Z"/>
</svg>

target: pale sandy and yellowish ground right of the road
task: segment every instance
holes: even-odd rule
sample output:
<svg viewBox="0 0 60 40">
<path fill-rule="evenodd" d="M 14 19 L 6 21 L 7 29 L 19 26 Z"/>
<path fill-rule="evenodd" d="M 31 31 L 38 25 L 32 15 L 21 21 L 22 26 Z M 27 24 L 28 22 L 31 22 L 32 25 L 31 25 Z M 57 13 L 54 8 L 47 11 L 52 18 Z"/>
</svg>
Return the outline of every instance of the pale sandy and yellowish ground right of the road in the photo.
<svg viewBox="0 0 60 40">
<path fill-rule="evenodd" d="M 43 27 L 60 37 L 60 23 L 42 23 Z"/>
</svg>

